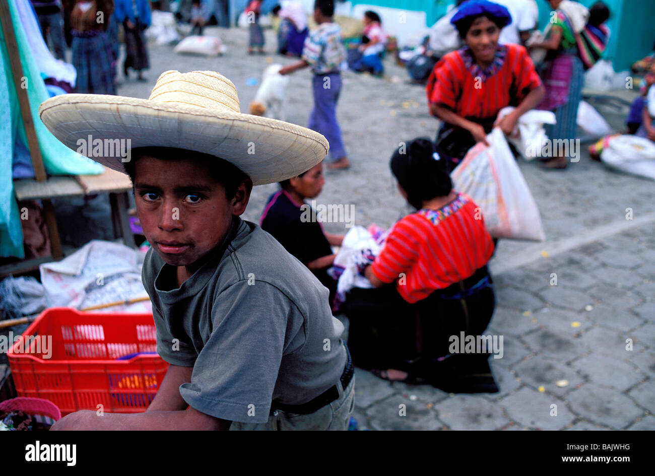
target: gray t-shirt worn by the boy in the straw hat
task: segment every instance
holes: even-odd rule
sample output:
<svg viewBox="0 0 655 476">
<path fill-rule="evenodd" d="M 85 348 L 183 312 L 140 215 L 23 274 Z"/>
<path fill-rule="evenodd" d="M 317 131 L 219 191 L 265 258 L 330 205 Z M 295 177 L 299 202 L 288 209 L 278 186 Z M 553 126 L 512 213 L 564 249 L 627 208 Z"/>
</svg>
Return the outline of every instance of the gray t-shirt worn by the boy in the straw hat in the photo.
<svg viewBox="0 0 655 476">
<path fill-rule="evenodd" d="M 152 248 L 141 279 L 157 352 L 193 367 L 191 383 L 179 388 L 183 399 L 216 418 L 261 423 L 272 401 L 299 405 L 337 383 L 346 365 L 343 324 L 326 287 L 275 238 L 238 217 L 232 227 L 227 249 L 208 253 L 180 287 L 176 267 Z"/>
</svg>

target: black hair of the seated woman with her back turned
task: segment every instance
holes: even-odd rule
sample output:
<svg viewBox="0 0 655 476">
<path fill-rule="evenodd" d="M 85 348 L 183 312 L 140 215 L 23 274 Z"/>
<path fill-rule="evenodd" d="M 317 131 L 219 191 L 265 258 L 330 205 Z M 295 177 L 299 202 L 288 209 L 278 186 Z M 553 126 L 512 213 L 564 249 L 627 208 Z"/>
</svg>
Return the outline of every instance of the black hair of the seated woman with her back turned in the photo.
<svg viewBox="0 0 655 476">
<path fill-rule="evenodd" d="M 407 192 L 407 202 L 417 210 L 424 201 L 447 196 L 453 190 L 446 159 L 436 160 L 436 156 L 434 143 L 427 137 L 408 142 L 404 150 L 399 147 L 391 156 L 391 172 Z"/>
</svg>

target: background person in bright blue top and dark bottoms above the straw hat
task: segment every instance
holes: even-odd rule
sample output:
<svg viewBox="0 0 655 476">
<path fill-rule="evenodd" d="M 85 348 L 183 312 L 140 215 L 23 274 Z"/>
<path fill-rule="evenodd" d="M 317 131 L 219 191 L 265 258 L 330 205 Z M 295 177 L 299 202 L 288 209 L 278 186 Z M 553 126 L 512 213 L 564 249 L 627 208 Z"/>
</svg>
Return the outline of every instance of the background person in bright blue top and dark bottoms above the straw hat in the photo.
<svg viewBox="0 0 655 476">
<path fill-rule="evenodd" d="M 125 33 L 123 74 L 129 77 L 128 69 L 131 67 L 137 72 L 138 81 L 147 81 L 142 71 L 150 67 L 147 39 L 143 34 L 151 22 L 148 0 L 116 0 L 116 19 L 122 22 Z"/>
</svg>

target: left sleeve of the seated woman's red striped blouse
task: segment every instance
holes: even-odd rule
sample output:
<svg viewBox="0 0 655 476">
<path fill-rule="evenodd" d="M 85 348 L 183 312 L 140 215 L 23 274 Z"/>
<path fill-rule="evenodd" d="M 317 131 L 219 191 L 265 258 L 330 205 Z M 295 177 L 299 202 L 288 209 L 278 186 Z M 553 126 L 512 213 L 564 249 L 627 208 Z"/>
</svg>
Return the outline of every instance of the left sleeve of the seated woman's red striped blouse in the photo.
<svg viewBox="0 0 655 476">
<path fill-rule="evenodd" d="M 386 237 L 384 248 L 373 262 L 373 274 L 383 283 L 392 283 L 418 259 L 418 246 L 409 227 L 399 221 Z"/>
</svg>

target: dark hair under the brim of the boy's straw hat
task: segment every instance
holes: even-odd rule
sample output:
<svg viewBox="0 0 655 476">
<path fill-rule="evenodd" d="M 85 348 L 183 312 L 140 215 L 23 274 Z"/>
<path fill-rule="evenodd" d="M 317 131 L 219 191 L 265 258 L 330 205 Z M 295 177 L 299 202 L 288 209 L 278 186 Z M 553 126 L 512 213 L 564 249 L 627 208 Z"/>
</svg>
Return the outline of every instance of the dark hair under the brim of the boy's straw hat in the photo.
<svg viewBox="0 0 655 476">
<path fill-rule="evenodd" d="M 236 189 L 242 181 L 250 179 L 250 177 L 244 174 L 244 172 L 242 172 L 238 167 L 227 160 L 223 160 L 214 155 L 189 151 L 186 149 L 176 149 L 174 147 L 136 147 L 135 149 L 132 149 L 131 160 L 123 163 L 125 173 L 130 176 L 133 191 L 134 179 L 136 176 L 136 161 L 146 155 L 159 158 L 160 160 L 170 160 L 171 162 L 192 159 L 200 160 L 208 164 L 210 177 L 225 187 L 225 196 L 227 200 L 232 200 L 234 198 L 234 195 L 236 195 Z"/>
</svg>

